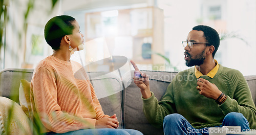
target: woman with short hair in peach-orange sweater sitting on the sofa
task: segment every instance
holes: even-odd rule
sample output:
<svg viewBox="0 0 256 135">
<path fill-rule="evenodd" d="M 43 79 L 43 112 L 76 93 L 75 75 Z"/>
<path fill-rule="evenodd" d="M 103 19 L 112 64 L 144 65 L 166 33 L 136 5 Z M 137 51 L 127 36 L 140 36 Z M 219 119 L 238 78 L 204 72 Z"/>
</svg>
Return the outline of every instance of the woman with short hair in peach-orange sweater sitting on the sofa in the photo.
<svg viewBox="0 0 256 135">
<path fill-rule="evenodd" d="M 45 39 L 54 51 L 35 68 L 30 93 L 33 114 L 39 115 L 46 134 L 142 134 L 117 129 L 116 115 L 104 115 L 89 79 L 74 77 L 82 66 L 70 56 L 84 42 L 75 18 L 51 18 Z"/>
</svg>

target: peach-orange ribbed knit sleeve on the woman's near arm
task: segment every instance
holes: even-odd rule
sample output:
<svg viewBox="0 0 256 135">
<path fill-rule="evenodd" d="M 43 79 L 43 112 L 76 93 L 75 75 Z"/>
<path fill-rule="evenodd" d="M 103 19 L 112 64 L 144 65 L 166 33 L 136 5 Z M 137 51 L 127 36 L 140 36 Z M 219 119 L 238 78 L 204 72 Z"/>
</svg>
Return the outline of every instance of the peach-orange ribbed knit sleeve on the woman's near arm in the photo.
<svg viewBox="0 0 256 135">
<path fill-rule="evenodd" d="M 63 133 L 84 128 L 94 128 L 96 119 L 76 117 L 61 111 L 57 99 L 54 73 L 39 68 L 33 76 L 31 89 L 34 105 L 42 124 L 49 130 Z"/>
</svg>

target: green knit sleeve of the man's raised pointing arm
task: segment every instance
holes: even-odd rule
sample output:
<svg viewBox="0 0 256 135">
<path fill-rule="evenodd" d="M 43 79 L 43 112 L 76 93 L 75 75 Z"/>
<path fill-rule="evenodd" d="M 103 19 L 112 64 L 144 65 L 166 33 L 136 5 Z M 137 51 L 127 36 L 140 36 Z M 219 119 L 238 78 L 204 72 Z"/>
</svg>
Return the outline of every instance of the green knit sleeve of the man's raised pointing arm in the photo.
<svg viewBox="0 0 256 135">
<path fill-rule="evenodd" d="M 165 116 L 177 112 L 174 104 L 173 85 L 174 81 L 168 85 L 165 95 L 159 102 L 153 92 L 151 92 L 150 98 L 142 98 L 145 117 L 156 128 L 163 126 Z"/>
</svg>

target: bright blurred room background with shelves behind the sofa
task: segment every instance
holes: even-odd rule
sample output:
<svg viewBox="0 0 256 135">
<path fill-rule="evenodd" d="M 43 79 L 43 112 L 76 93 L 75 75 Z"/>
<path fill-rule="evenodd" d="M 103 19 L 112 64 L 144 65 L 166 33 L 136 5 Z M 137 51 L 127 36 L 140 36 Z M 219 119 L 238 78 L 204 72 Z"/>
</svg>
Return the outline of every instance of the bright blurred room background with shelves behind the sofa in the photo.
<svg viewBox="0 0 256 135">
<path fill-rule="evenodd" d="M 86 40 L 71 59 L 89 64 L 110 56 L 133 59 L 141 70 L 187 69 L 181 41 L 197 25 L 220 34 L 215 59 L 256 75 L 255 0 L 1 0 L 0 70 L 33 69 L 52 54 L 46 22 L 71 15 Z M 81 59 L 81 60 L 80 60 Z"/>
</svg>

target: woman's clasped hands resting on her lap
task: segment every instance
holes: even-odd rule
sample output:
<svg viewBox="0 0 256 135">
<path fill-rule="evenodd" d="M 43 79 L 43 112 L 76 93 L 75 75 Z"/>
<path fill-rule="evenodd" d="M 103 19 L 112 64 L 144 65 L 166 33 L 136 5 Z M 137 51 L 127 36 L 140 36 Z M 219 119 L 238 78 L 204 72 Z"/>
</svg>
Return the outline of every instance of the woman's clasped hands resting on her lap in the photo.
<svg viewBox="0 0 256 135">
<path fill-rule="evenodd" d="M 117 120 L 116 115 L 113 115 L 109 118 L 102 118 L 96 120 L 95 128 L 117 128 L 119 126 L 119 122 Z"/>
</svg>

